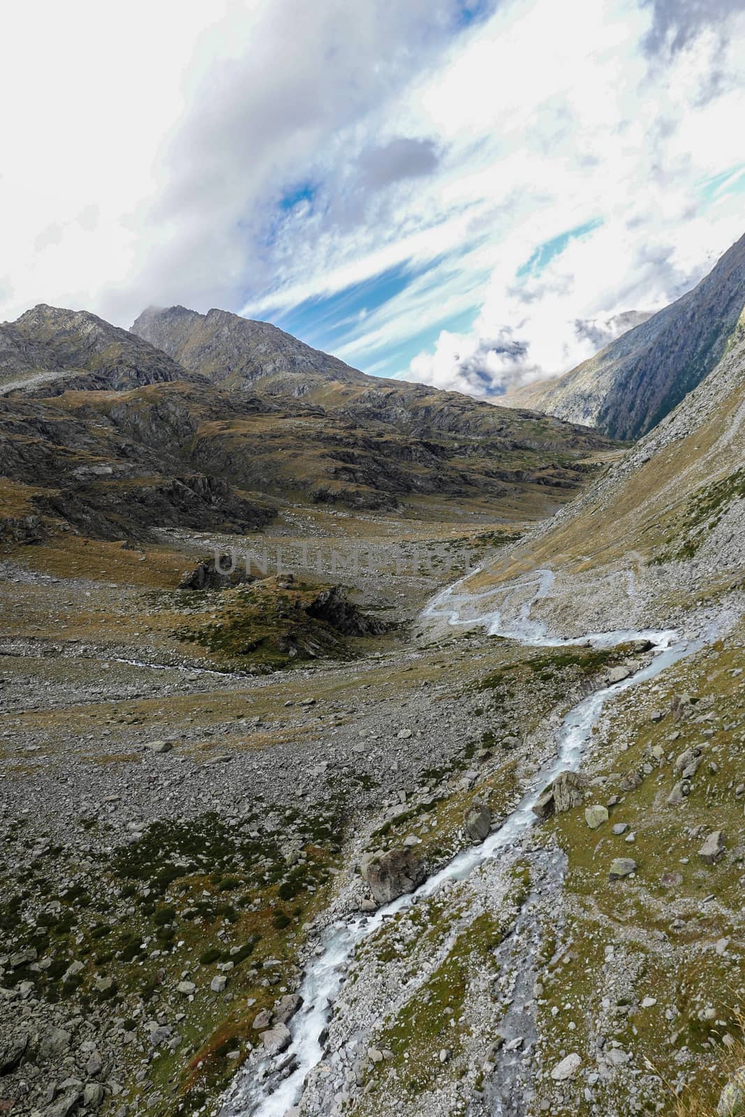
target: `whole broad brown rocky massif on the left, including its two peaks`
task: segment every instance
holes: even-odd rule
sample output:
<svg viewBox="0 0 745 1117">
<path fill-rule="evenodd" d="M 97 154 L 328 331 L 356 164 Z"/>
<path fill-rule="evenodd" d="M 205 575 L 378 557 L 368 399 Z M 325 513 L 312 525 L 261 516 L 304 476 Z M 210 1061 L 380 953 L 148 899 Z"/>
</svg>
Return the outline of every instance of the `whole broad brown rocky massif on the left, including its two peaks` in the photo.
<svg viewBox="0 0 745 1117">
<path fill-rule="evenodd" d="M 565 503 L 596 468 L 588 456 L 613 446 L 557 419 L 365 376 L 265 323 L 181 308 L 157 321 L 164 344 L 175 323 L 171 347 L 193 369 L 85 312 L 42 305 L 0 327 L 0 475 L 34 487 L 20 517 L 31 527 L 13 513 L 0 534 L 247 532 L 277 502 L 419 518 L 499 509 L 512 522 Z M 204 322 L 207 350 L 194 334 Z"/>
</svg>

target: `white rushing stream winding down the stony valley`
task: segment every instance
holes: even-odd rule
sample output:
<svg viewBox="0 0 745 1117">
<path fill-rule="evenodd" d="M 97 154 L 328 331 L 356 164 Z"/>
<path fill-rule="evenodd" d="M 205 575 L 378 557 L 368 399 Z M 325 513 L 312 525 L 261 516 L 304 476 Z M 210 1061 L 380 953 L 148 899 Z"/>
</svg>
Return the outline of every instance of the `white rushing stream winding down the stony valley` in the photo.
<svg viewBox="0 0 745 1117">
<path fill-rule="evenodd" d="M 238 1117 L 238 1115 L 286 1117 L 288 1110 L 297 1105 L 300 1098 L 308 1071 L 323 1058 L 319 1037 L 328 1023 L 332 1005 L 342 986 L 342 966 L 350 961 L 356 945 L 374 934 L 386 918 L 432 896 L 447 881 L 462 880 L 484 861 L 497 856 L 499 850 L 512 846 L 537 821 L 533 806 L 547 785 L 560 772 L 579 768 L 584 745 L 608 699 L 653 678 L 699 645 L 698 641 L 693 643 L 678 639 L 678 633 L 671 629 L 620 630 L 589 633 L 581 639 L 552 639 L 546 632 L 545 624 L 531 619 L 531 610 L 536 600 L 548 593 L 553 580 L 551 571 L 539 570 L 508 583 L 504 589 L 488 590 L 478 594 L 459 592 L 462 582 L 456 582 L 430 602 L 424 610 L 424 617 L 447 620 L 452 626 L 481 624 L 490 636 L 509 637 L 534 647 L 564 647 L 585 642 L 598 648 L 609 648 L 629 640 L 650 640 L 655 645 L 655 658 L 647 667 L 621 682 L 596 690 L 566 714 L 556 735 L 555 758 L 536 773 L 531 791 L 520 800 L 499 830 L 489 834 L 480 846 L 470 847 L 458 853 L 445 868 L 429 877 L 416 892 L 399 897 L 392 904 L 379 908 L 372 916 L 354 916 L 327 930 L 322 953 L 308 962 L 298 990 L 304 1004 L 289 1024 L 292 1044 L 278 1060 L 287 1065 L 286 1061 L 294 1057 L 292 1063 L 294 1069 L 286 1078 L 278 1080 L 278 1076 L 271 1073 L 270 1059 L 262 1060 L 258 1067 L 256 1063 L 247 1067 L 245 1071 L 238 1073 L 226 1096 L 223 1117 Z M 480 603 L 488 598 L 494 599 L 500 594 L 505 598 L 514 594 L 522 596 L 525 590 L 532 590 L 533 593 L 518 605 L 515 619 L 509 622 L 503 622 L 502 619 L 504 604 L 502 610 L 491 608 L 479 612 Z"/>
</svg>

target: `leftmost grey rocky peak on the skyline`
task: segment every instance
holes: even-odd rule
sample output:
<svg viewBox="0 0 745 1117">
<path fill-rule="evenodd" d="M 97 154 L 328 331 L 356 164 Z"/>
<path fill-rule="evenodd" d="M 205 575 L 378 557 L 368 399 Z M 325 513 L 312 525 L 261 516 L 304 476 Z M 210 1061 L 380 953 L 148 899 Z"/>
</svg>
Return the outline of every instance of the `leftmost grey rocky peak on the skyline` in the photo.
<svg viewBox="0 0 745 1117">
<path fill-rule="evenodd" d="M 34 385 L 44 385 L 47 394 L 74 386 L 121 391 L 197 379 L 168 354 L 87 311 L 42 303 L 0 324 L 0 392 Z"/>
</svg>

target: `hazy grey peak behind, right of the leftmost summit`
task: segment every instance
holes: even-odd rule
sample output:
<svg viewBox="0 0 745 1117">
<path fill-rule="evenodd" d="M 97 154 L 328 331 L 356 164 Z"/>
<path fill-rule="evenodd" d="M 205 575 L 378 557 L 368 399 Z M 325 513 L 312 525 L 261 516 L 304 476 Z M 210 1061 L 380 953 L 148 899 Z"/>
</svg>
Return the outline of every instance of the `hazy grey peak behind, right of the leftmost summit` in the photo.
<svg viewBox="0 0 745 1117">
<path fill-rule="evenodd" d="M 300 395 L 319 381 L 369 379 L 269 322 L 252 322 L 228 311 L 199 314 L 184 306 L 151 306 L 135 321 L 132 333 L 223 388 Z"/>
</svg>

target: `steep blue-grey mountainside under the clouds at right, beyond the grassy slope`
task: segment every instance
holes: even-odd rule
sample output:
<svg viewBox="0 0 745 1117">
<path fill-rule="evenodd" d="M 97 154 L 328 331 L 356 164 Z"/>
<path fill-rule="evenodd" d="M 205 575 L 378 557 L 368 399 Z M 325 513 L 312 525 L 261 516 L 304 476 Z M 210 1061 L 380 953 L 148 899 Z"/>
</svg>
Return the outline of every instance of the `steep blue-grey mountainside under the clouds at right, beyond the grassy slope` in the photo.
<svg viewBox="0 0 745 1117">
<path fill-rule="evenodd" d="M 508 393 L 533 408 L 598 427 L 612 438 L 651 430 L 707 376 L 745 328 L 745 236 L 698 286 L 557 380 Z"/>
</svg>

